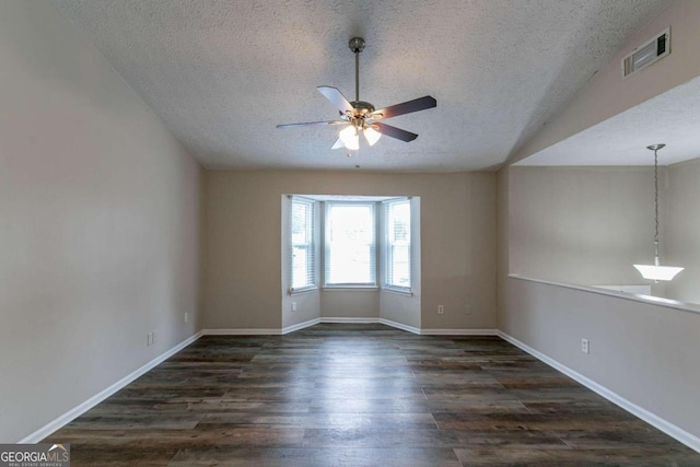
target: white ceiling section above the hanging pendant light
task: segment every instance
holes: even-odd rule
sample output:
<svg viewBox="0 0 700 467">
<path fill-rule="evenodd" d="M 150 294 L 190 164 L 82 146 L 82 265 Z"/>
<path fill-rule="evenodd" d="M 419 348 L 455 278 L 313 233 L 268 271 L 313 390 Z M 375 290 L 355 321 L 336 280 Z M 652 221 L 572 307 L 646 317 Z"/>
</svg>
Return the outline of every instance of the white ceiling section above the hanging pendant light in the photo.
<svg viewBox="0 0 700 467">
<path fill-rule="evenodd" d="M 698 157 L 700 78 L 587 128 L 515 165 L 661 165 Z"/>
</svg>

